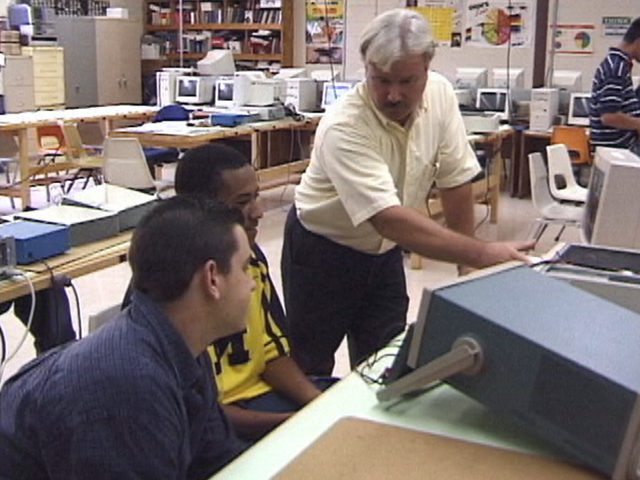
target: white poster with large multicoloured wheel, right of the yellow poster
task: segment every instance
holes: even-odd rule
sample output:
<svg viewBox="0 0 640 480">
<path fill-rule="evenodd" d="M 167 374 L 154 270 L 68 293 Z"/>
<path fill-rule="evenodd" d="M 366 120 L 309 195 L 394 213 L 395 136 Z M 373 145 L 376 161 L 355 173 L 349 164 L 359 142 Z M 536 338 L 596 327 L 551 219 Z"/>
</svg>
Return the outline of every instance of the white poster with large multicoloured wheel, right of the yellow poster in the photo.
<svg viewBox="0 0 640 480">
<path fill-rule="evenodd" d="M 531 0 L 467 2 L 465 44 L 474 47 L 528 47 Z"/>
</svg>

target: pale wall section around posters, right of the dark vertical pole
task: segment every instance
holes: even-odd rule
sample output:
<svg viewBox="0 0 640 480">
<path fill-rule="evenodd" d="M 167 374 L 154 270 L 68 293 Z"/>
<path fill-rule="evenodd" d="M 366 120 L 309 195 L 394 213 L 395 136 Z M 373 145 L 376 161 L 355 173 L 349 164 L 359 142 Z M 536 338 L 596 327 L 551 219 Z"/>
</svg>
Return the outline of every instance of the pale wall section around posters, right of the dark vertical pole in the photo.
<svg viewBox="0 0 640 480">
<path fill-rule="evenodd" d="M 622 37 L 605 37 L 602 34 L 603 16 L 623 16 L 632 19 L 640 16 L 640 1 L 638 0 L 552 0 L 549 7 L 549 25 L 552 24 L 554 6 L 558 7 L 558 23 L 569 24 L 594 24 L 594 52 L 591 55 L 566 55 L 556 54 L 553 59 L 556 70 L 580 70 L 582 72 L 582 89 L 591 89 L 591 79 L 598 64 L 607 55 L 611 46 L 617 46 Z M 576 8 L 579 4 L 580 8 Z M 547 42 L 548 48 L 550 43 Z M 548 55 L 548 54 L 547 54 Z M 547 69 L 551 59 L 547 56 Z M 635 74 L 639 75 L 640 69 L 635 67 Z"/>
</svg>

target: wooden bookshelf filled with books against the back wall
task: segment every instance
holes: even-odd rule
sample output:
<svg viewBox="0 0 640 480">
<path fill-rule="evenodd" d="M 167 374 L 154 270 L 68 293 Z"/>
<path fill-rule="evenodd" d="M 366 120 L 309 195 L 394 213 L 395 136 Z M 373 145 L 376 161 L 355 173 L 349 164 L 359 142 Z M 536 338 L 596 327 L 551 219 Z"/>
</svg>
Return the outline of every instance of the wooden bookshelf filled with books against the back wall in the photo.
<svg viewBox="0 0 640 480">
<path fill-rule="evenodd" d="M 145 33 L 163 66 L 189 66 L 212 48 L 234 52 L 236 64 L 293 64 L 294 0 L 145 0 Z M 182 8 L 180 8 L 182 5 Z M 182 12 L 182 14 L 181 14 Z"/>
</svg>

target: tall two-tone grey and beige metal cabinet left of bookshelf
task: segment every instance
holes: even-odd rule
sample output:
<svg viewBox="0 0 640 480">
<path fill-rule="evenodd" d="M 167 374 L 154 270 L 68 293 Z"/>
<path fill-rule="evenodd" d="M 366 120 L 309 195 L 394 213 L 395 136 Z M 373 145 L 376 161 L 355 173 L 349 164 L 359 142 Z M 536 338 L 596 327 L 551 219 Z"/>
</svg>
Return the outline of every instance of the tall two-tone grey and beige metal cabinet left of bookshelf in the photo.
<svg viewBox="0 0 640 480">
<path fill-rule="evenodd" d="M 67 106 L 140 103 L 138 22 L 109 17 L 58 17 L 56 32 L 66 52 Z"/>
</svg>

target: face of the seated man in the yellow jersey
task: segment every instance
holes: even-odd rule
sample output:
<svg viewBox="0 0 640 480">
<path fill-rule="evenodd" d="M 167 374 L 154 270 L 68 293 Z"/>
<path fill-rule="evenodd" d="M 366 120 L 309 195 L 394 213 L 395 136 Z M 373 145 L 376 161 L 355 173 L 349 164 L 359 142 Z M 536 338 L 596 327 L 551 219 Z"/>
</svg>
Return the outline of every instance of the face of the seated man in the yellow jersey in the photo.
<svg viewBox="0 0 640 480">
<path fill-rule="evenodd" d="M 251 246 L 255 244 L 258 223 L 264 210 L 258 197 L 258 179 L 251 165 L 222 172 L 223 188 L 220 191 L 221 202 L 242 211 L 244 229 Z"/>
</svg>

